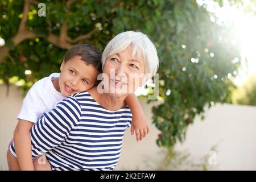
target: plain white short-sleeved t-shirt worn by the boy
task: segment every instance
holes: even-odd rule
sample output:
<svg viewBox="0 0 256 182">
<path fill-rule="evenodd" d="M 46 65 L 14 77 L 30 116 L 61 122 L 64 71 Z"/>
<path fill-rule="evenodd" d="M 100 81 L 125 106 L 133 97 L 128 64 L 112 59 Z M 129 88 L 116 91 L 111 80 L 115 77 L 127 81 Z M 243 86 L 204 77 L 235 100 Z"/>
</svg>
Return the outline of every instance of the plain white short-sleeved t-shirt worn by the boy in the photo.
<svg viewBox="0 0 256 182">
<path fill-rule="evenodd" d="M 42 117 L 43 113 L 52 110 L 54 106 L 64 100 L 65 97 L 52 84 L 52 77 L 59 76 L 60 73 L 52 73 L 50 76 L 35 82 L 23 100 L 18 119 L 35 123 Z"/>
</svg>

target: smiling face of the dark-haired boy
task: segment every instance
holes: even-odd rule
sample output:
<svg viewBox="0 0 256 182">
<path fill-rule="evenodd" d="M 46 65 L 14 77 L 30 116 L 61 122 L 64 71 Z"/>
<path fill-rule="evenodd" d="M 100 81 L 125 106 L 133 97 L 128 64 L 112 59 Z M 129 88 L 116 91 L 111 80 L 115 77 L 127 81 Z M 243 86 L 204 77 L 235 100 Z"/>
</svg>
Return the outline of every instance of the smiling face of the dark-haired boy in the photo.
<svg viewBox="0 0 256 182">
<path fill-rule="evenodd" d="M 84 92 L 97 82 L 99 72 L 92 64 L 86 65 L 80 56 L 74 56 L 60 67 L 60 93 L 68 97 L 71 94 Z"/>
</svg>

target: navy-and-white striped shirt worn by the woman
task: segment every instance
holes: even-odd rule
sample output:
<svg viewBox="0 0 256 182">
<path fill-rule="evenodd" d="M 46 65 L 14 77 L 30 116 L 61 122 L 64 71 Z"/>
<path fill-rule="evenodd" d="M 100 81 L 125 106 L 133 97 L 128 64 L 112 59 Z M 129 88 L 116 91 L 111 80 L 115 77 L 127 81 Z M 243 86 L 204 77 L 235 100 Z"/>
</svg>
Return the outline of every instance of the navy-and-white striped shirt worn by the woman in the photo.
<svg viewBox="0 0 256 182">
<path fill-rule="evenodd" d="M 46 154 L 53 170 L 113 170 L 131 119 L 128 106 L 110 111 L 88 92 L 73 94 L 32 127 L 32 157 Z"/>
</svg>

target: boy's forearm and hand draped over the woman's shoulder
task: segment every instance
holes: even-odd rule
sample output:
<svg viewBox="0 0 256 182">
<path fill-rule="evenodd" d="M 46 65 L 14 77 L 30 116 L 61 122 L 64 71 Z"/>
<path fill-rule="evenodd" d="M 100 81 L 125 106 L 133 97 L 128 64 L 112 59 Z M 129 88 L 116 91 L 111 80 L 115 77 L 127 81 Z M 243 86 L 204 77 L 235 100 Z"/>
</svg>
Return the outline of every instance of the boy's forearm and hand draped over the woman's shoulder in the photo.
<svg viewBox="0 0 256 182">
<path fill-rule="evenodd" d="M 147 119 L 144 116 L 141 105 L 135 94 L 129 94 L 125 99 L 126 104 L 130 107 L 133 114 L 133 120 L 131 121 L 131 135 L 136 134 L 137 141 L 142 140 L 143 137 L 149 132 Z"/>
</svg>

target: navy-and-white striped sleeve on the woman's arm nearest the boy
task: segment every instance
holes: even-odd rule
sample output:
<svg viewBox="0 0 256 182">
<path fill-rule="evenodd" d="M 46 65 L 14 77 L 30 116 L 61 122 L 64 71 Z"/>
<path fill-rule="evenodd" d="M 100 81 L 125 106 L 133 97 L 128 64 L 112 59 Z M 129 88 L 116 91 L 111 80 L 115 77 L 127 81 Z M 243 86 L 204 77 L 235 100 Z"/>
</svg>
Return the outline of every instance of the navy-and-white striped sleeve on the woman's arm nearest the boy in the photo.
<svg viewBox="0 0 256 182">
<path fill-rule="evenodd" d="M 30 131 L 32 157 L 37 158 L 63 143 L 80 118 L 81 107 L 73 97 L 66 98 L 44 113 Z"/>
</svg>

